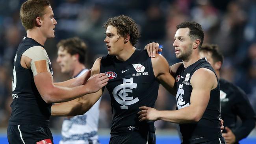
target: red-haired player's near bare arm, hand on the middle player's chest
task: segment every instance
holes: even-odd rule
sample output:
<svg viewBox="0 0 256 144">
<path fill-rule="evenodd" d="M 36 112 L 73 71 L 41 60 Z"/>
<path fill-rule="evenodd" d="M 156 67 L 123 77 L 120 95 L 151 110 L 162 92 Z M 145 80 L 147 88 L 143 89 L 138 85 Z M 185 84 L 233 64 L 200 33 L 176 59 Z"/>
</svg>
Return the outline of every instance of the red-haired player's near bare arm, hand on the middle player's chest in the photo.
<svg viewBox="0 0 256 144">
<path fill-rule="evenodd" d="M 46 103 L 67 102 L 84 94 L 97 92 L 107 84 L 104 74 L 97 74 L 88 79 L 85 85 L 77 87 L 60 87 L 53 84 L 51 74 L 43 72 L 34 77 L 35 85 Z"/>
</svg>

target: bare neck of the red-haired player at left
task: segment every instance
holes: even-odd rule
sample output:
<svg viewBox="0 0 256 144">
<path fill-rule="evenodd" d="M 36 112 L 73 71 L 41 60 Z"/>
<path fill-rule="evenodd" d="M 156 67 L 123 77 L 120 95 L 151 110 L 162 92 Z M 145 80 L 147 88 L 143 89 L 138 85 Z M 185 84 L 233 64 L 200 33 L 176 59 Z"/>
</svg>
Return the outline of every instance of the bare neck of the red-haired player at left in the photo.
<svg viewBox="0 0 256 144">
<path fill-rule="evenodd" d="M 32 30 L 27 30 L 27 37 L 32 38 L 41 45 L 44 45 L 47 39 L 46 37 L 43 37 L 43 35 L 41 35 L 41 32 L 36 28 Z"/>
</svg>

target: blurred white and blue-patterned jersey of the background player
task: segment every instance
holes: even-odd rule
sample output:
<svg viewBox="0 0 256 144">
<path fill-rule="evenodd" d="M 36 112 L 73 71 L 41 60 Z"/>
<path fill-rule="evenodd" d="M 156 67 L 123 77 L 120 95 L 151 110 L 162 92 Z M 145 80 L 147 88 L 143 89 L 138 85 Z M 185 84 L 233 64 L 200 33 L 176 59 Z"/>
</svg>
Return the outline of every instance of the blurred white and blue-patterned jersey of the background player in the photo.
<svg viewBox="0 0 256 144">
<path fill-rule="evenodd" d="M 76 77 L 84 74 L 82 70 Z M 61 129 L 59 144 L 98 144 L 98 120 L 100 114 L 100 99 L 83 115 L 65 118 Z"/>
</svg>

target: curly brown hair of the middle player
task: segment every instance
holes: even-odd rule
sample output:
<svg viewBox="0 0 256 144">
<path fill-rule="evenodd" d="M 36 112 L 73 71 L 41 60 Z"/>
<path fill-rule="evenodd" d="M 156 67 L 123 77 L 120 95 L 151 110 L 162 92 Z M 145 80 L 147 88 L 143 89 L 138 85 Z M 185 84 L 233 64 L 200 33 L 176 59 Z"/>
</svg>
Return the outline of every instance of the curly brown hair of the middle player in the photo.
<svg viewBox="0 0 256 144">
<path fill-rule="evenodd" d="M 138 39 L 141 37 L 137 24 L 128 16 L 119 15 L 109 18 L 103 27 L 107 29 L 110 25 L 117 28 L 117 34 L 121 35 L 123 38 L 127 38 L 127 35 L 130 35 L 132 46 L 135 46 Z"/>
</svg>

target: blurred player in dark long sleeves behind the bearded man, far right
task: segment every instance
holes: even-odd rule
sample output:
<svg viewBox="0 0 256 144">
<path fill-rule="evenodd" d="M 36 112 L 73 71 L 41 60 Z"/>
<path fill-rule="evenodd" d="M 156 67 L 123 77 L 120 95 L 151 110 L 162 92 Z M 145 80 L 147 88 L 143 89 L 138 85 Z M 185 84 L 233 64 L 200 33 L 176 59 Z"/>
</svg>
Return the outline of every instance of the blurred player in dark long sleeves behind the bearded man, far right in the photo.
<svg viewBox="0 0 256 144">
<path fill-rule="evenodd" d="M 220 78 L 223 54 L 217 45 L 205 44 L 200 49 L 200 56 L 206 57 L 214 68 L 220 82 L 221 118 L 224 120 L 223 137 L 227 144 L 238 144 L 255 127 L 255 113 L 245 92 L 236 85 Z M 237 116 L 241 119 L 241 124 Z"/>
</svg>

